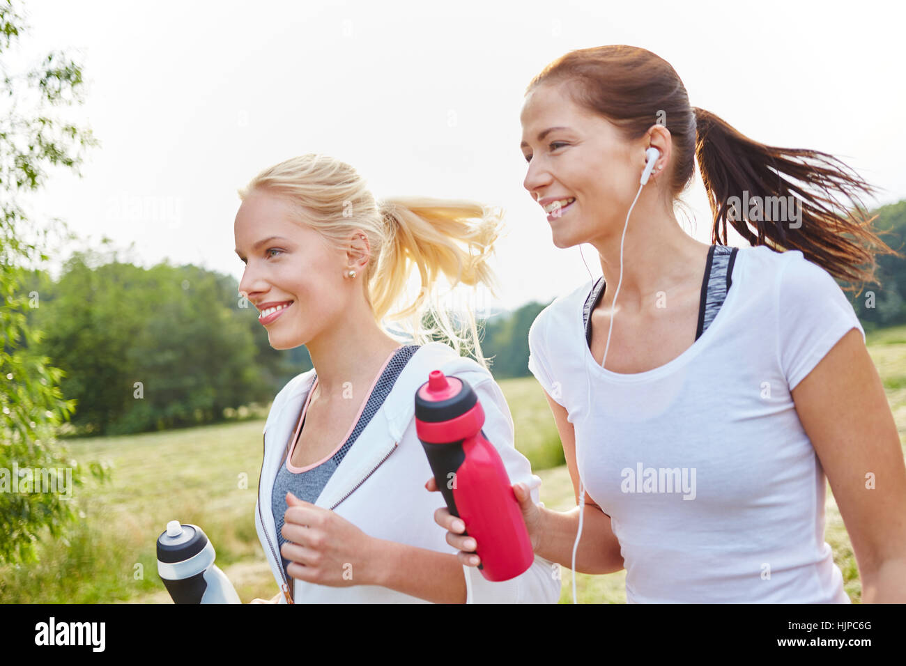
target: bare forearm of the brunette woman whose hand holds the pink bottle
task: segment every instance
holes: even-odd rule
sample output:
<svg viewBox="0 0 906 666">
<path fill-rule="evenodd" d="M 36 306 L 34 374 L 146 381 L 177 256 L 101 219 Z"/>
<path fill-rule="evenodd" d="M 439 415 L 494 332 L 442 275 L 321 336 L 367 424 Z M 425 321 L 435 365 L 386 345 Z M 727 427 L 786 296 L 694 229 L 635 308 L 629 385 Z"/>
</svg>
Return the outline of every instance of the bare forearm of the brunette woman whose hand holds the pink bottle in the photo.
<svg viewBox="0 0 906 666">
<path fill-rule="evenodd" d="M 535 554 L 545 560 L 571 568 L 573 544 L 579 530 L 579 507 L 569 511 L 541 509 L 541 538 Z M 623 568 L 620 542 L 613 536 L 611 518 L 600 508 L 585 505 L 582 538 L 575 554 L 575 570 L 580 574 L 612 574 Z"/>
</svg>

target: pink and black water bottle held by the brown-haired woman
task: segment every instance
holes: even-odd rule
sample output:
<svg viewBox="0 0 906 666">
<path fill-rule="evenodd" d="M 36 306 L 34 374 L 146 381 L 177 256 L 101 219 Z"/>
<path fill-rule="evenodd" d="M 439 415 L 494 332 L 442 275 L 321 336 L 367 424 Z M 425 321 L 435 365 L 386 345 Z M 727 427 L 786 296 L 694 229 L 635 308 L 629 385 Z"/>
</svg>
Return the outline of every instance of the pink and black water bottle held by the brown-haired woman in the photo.
<svg viewBox="0 0 906 666">
<path fill-rule="evenodd" d="M 481 427 L 485 412 L 467 381 L 435 370 L 415 394 L 415 428 L 453 516 L 474 536 L 478 569 L 506 581 L 535 560 L 503 460 Z"/>
</svg>

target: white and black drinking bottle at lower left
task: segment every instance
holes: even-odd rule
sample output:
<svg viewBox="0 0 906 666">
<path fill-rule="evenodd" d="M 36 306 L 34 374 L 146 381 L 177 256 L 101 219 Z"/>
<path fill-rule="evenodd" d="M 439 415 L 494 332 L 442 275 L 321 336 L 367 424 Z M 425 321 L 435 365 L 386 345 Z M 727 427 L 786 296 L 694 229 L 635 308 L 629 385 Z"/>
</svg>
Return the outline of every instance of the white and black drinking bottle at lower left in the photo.
<svg viewBox="0 0 906 666">
<path fill-rule="evenodd" d="M 174 603 L 242 603 L 214 564 L 214 546 L 197 525 L 167 523 L 158 537 L 158 574 Z"/>
</svg>

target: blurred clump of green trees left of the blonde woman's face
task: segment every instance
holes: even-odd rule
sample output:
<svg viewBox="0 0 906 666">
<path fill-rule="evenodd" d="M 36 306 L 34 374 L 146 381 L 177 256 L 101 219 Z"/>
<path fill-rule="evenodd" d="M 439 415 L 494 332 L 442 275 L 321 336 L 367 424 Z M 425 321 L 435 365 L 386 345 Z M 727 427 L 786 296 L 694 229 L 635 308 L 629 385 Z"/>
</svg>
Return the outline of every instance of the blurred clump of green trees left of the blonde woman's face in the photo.
<svg viewBox="0 0 906 666">
<path fill-rule="evenodd" d="M 73 429 L 122 435 L 190 426 L 272 399 L 282 388 L 275 374 L 289 369 L 278 352 L 261 353 L 262 345 L 276 351 L 237 294 L 232 277 L 194 265 L 145 269 L 116 252 L 73 253 L 56 283 L 43 287 L 51 306 L 31 313 L 47 332 L 41 352 L 78 400 Z"/>
</svg>

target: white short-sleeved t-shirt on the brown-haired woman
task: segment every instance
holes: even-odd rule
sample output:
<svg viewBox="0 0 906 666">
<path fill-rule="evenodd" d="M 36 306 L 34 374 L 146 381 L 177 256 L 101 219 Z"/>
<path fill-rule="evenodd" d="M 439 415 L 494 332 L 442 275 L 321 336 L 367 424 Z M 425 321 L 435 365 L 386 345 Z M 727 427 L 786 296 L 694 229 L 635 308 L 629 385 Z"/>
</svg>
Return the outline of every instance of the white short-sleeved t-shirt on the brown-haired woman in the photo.
<svg viewBox="0 0 906 666">
<path fill-rule="evenodd" d="M 583 485 L 620 541 L 627 601 L 849 603 L 824 542 L 824 470 L 790 395 L 844 333 L 864 339 L 834 277 L 798 250 L 740 247 L 708 329 L 632 374 L 604 370 L 588 348 L 592 284 L 538 314 L 528 367 L 573 423 Z"/>
</svg>

